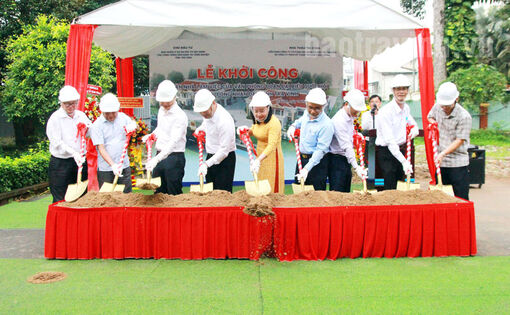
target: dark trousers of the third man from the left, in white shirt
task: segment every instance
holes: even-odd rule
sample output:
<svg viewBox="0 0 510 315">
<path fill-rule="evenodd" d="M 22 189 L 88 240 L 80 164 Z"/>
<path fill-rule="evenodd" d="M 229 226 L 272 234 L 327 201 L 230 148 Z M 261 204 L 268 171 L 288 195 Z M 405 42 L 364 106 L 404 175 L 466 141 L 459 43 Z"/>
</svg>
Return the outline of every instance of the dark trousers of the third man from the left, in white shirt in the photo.
<svg viewBox="0 0 510 315">
<path fill-rule="evenodd" d="M 161 177 L 161 187 L 157 188 L 156 192 L 169 195 L 182 194 L 185 165 L 184 152 L 171 153 L 166 159 L 159 162 L 152 174 L 152 177 Z"/>
</svg>

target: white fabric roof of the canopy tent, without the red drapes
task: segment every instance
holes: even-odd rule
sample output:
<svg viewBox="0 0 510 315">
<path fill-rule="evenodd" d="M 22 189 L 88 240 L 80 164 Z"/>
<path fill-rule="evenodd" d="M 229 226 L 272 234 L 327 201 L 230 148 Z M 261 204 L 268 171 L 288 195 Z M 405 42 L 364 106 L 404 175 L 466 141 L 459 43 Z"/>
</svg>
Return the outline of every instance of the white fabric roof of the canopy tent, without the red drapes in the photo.
<svg viewBox="0 0 510 315">
<path fill-rule="evenodd" d="M 78 17 L 97 25 L 96 45 L 127 58 L 177 39 L 184 31 L 308 33 L 335 41 L 337 52 L 371 59 L 423 26 L 375 0 L 123 0 Z"/>
</svg>

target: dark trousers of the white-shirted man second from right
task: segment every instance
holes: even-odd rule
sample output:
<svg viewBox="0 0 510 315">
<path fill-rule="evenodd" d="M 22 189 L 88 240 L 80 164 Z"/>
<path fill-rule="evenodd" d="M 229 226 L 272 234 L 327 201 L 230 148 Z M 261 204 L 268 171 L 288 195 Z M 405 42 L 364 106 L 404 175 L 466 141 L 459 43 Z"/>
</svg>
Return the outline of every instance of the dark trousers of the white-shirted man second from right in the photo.
<svg viewBox="0 0 510 315">
<path fill-rule="evenodd" d="M 376 146 L 377 164 L 383 172 L 384 190 L 397 189 L 397 182 L 405 179 L 405 173 L 397 158 L 391 154 L 388 147 Z M 406 155 L 406 145 L 400 146 L 400 152 Z"/>
</svg>

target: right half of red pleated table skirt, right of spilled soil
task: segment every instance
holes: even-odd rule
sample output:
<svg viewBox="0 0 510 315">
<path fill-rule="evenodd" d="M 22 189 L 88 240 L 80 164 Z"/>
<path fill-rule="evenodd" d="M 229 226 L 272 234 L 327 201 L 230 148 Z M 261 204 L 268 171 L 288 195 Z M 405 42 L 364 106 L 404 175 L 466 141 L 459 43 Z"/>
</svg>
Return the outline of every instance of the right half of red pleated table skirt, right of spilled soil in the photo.
<svg viewBox="0 0 510 315">
<path fill-rule="evenodd" d="M 472 202 L 273 211 L 279 260 L 476 254 Z"/>
</svg>

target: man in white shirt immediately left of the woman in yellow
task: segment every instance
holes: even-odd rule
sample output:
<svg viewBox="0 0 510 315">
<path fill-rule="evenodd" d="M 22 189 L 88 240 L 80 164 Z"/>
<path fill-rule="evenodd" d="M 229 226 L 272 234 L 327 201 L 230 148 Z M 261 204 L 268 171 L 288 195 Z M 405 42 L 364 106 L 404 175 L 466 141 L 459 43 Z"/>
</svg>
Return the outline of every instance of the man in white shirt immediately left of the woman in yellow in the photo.
<svg viewBox="0 0 510 315">
<path fill-rule="evenodd" d="M 212 182 L 214 189 L 232 192 L 236 166 L 234 119 L 223 106 L 216 103 L 214 95 L 207 89 L 195 94 L 193 110 L 204 118 L 195 132 L 205 132 L 207 151 L 207 160 L 199 167 L 198 174 L 205 175 L 206 181 Z"/>
</svg>

